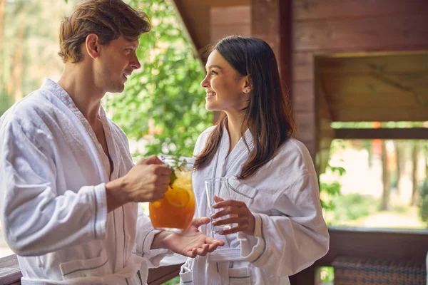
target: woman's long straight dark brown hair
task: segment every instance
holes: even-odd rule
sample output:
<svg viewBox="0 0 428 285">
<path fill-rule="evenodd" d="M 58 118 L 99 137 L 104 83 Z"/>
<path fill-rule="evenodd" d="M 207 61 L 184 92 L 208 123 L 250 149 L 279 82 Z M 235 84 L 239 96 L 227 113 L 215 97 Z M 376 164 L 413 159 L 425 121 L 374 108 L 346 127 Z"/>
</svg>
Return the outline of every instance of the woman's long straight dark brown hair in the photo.
<svg viewBox="0 0 428 285">
<path fill-rule="evenodd" d="M 254 148 L 243 164 L 241 180 L 250 177 L 269 162 L 295 133 L 295 122 L 288 96 L 283 90 L 277 61 L 272 48 L 260 38 L 228 36 L 215 45 L 215 50 L 242 76 L 248 76 L 251 93 L 245 106 L 241 135 L 247 128 L 253 135 Z M 228 117 L 220 115 L 205 149 L 198 154 L 195 170 L 207 167 L 220 145 Z M 245 142 L 248 147 L 248 143 Z M 249 147 L 248 147 L 249 149 Z"/>
</svg>

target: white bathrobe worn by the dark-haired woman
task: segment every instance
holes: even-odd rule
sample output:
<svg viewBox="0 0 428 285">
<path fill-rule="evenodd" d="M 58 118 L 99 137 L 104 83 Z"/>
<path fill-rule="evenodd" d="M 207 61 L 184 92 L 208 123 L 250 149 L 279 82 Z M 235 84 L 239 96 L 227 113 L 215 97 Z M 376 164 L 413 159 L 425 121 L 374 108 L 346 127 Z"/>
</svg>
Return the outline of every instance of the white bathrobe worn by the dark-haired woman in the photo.
<svg viewBox="0 0 428 285">
<path fill-rule="evenodd" d="M 203 150 L 213 128 L 199 136 L 195 155 Z M 245 139 L 252 150 L 250 130 Z M 235 175 L 240 175 L 248 149 L 241 138 L 230 155 L 228 150 L 229 136 L 223 130 L 213 161 L 193 173 L 196 216 L 209 217 L 204 181 L 229 177 L 230 199 L 245 202 L 255 216 L 255 236 L 215 234 L 225 240 L 225 247 L 206 257 L 188 259 L 181 269 L 180 284 L 290 284 L 288 276 L 313 264 L 329 247 L 310 154 L 305 145 L 290 139 L 255 175 L 240 181 Z M 210 224 L 202 232 L 210 234 Z"/>
</svg>

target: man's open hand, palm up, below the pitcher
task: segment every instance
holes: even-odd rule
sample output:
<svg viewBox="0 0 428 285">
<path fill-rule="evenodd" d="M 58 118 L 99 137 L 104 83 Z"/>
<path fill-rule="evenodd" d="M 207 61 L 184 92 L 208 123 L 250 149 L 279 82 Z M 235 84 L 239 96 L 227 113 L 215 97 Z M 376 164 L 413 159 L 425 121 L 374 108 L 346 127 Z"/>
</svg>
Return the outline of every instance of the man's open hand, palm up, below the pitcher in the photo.
<svg viewBox="0 0 428 285">
<path fill-rule="evenodd" d="M 153 240 L 152 249 L 163 247 L 170 249 L 175 253 L 182 254 L 185 257 L 196 257 L 196 255 L 205 255 L 213 252 L 218 246 L 222 247 L 225 242 L 220 239 L 207 237 L 199 232 L 198 227 L 208 224 L 208 217 L 193 219 L 190 227 L 181 234 L 161 232 L 156 234 Z"/>
</svg>

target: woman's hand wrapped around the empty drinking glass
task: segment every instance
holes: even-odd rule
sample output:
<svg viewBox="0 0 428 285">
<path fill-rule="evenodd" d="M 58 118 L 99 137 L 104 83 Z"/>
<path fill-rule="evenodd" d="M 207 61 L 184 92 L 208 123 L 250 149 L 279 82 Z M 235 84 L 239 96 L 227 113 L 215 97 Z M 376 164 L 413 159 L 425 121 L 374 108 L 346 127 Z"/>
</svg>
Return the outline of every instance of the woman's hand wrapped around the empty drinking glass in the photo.
<svg viewBox="0 0 428 285">
<path fill-rule="evenodd" d="M 238 224 L 237 227 L 223 229 L 223 231 L 218 232 L 219 234 L 224 235 L 233 234 L 235 232 L 244 232 L 245 234 L 251 236 L 254 235 L 255 217 L 244 202 L 236 200 L 223 200 L 217 196 L 214 197 L 214 201 L 217 203 L 213 205 L 214 209 L 223 209 L 216 212 L 211 217 L 213 219 L 218 219 L 227 215 L 229 215 L 229 217 L 215 220 L 212 222 L 213 225 L 220 226 L 223 224 Z"/>
</svg>

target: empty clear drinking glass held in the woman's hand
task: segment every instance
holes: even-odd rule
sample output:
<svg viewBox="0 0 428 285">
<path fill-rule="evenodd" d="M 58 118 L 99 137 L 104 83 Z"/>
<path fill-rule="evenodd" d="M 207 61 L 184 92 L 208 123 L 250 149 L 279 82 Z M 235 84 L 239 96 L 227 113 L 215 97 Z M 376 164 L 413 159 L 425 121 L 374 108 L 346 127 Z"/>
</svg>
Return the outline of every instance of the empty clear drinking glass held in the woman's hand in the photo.
<svg viewBox="0 0 428 285">
<path fill-rule="evenodd" d="M 224 200 L 230 199 L 229 195 L 229 182 L 228 177 L 215 177 L 213 179 L 205 180 L 205 192 L 207 194 L 208 199 L 208 208 L 210 209 L 210 215 L 222 210 L 222 209 L 214 209 L 213 204 L 214 196 L 218 196 Z M 228 216 L 222 217 L 220 219 L 228 218 Z M 213 218 L 211 218 L 211 222 L 213 222 Z M 217 219 L 218 220 L 218 219 Z M 211 229 L 213 232 L 217 233 L 224 229 L 230 229 L 230 224 L 222 224 L 220 226 L 215 226 L 211 224 Z"/>
</svg>

